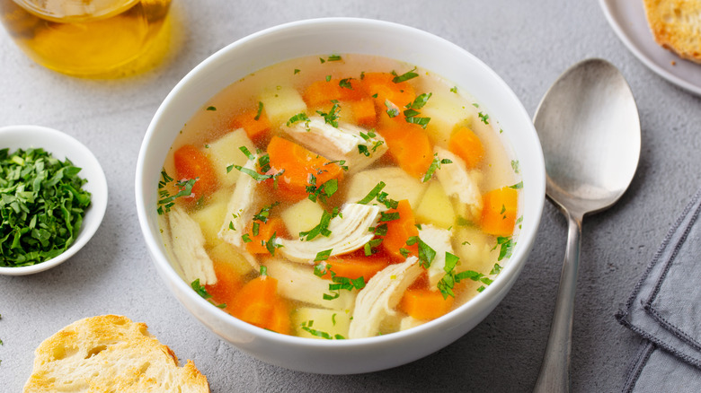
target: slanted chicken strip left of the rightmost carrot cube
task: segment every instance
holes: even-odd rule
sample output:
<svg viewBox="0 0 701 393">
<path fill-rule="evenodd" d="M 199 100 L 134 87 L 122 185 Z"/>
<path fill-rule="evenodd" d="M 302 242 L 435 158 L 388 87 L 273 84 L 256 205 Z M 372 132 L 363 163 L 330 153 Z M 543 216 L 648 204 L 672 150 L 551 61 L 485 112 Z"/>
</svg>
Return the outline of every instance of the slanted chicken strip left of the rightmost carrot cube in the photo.
<svg viewBox="0 0 701 393">
<path fill-rule="evenodd" d="M 457 198 L 464 207 L 458 209 L 458 212 L 465 214 L 466 219 L 475 221 L 482 214 L 482 194 L 475 182 L 475 176 L 466 169 L 465 162 L 456 154 L 438 146 L 435 147 L 434 153 L 438 154 L 440 160 L 448 159 L 452 162 L 436 170 L 436 177 L 446 195 Z"/>
</svg>

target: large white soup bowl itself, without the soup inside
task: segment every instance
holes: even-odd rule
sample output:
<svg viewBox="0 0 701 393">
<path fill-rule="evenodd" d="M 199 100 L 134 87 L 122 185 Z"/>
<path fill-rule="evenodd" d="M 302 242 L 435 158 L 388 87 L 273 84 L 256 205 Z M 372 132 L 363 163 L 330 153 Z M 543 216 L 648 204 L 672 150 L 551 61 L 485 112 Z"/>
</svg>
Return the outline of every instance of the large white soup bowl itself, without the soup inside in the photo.
<svg viewBox="0 0 701 393">
<path fill-rule="evenodd" d="M 367 54 L 418 65 L 468 92 L 496 119 L 524 187 L 523 221 L 509 262 L 482 293 L 445 316 L 398 333 L 351 340 L 284 336 L 254 327 L 217 309 L 192 291 L 166 257 L 158 226 L 158 180 L 175 136 L 191 116 L 230 83 L 283 60 L 329 54 Z M 206 327 L 248 354 L 296 371 L 351 374 L 412 362 L 465 335 L 506 296 L 526 265 L 545 202 L 543 153 L 528 113 L 509 86 L 465 49 L 428 32 L 391 22 L 325 18 L 292 22 L 255 33 L 219 50 L 185 75 L 146 130 L 138 155 L 136 201 L 147 249 L 164 283 Z M 468 354 L 466 354 L 468 355 Z"/>
</svg>

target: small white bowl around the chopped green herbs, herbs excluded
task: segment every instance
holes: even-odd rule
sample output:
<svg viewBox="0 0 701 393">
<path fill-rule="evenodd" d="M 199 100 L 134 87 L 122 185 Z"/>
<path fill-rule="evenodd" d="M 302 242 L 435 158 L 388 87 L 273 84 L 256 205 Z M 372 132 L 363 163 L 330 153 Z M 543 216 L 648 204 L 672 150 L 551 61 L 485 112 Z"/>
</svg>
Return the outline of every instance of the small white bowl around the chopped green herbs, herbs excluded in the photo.
<svg viewBox="0 0 701 393">
<path fill-rule="evenodd" d="M 83 188 L 92 194 L 91 203 L 85 211 L 83 225 L 78 231 L 78 236 L 61 255 L 31 266 L 0 266 L 0 275 L 31 275 L 65 262 L 93 237 L 102 223 L 102 217 L 107 209 L 107 179 L 104 177 L 100 162 L 84 144 L 53 128 L 39 126 L 0 127 L 0 149 L 4 148 L 9 148 L 10 153 L 17 149 L 42 148 L 58 160 L 64 161 L 68 158 L 76 167 L 82 168 L 78 176 L 87 179 Z"/>
</svg>

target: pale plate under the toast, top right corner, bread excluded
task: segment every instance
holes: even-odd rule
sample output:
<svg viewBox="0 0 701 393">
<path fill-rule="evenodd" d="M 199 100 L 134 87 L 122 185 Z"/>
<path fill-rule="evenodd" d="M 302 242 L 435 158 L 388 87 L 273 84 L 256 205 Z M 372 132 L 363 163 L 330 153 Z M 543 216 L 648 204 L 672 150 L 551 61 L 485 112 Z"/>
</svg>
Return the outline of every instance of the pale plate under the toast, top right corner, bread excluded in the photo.
<svg viewBox="0 0 701 393">
<path fill-rule="evenodd" d="M 642 0 L 599 0 L 599 4 L 618 38 L 644 65 L 671 83 L 701 95 L 701 65 L 684 60 L 655 42 Z"/>
</svg>

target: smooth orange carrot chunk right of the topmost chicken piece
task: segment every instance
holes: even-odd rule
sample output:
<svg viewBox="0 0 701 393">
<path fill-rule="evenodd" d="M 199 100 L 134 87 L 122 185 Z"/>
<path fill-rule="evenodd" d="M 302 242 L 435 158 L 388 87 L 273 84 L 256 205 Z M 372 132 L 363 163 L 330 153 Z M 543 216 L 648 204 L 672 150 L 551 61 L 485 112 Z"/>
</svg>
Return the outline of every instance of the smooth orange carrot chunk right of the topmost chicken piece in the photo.
<svg viewBox="0 0 701 393">
<path fill-rule="evenodd" d="M 396 123 L 377 128 L 385 138 L 389 153 L 397 165 L 411 176 L 421 179 L 433 162 L 433 148 L 429 136 L 421 126 Z"/>
</svg>

